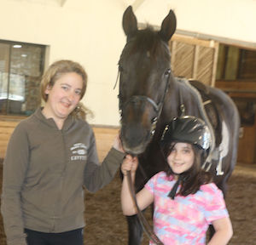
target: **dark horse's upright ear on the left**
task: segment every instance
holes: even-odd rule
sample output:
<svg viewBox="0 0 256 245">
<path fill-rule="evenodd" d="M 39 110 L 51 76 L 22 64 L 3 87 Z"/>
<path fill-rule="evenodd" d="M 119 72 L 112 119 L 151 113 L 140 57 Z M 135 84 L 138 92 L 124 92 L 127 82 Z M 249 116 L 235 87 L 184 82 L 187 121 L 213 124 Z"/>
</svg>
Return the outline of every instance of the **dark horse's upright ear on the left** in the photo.
<svg viewBox="0 0 256 245">
<path fill-rule="evenodd" d="M 137 32 L 137 19 L 135 14 L 133 14 L 131 6 L 125 10 L 123 15 L 123 29 L 128 38 Z"/>
</svg>

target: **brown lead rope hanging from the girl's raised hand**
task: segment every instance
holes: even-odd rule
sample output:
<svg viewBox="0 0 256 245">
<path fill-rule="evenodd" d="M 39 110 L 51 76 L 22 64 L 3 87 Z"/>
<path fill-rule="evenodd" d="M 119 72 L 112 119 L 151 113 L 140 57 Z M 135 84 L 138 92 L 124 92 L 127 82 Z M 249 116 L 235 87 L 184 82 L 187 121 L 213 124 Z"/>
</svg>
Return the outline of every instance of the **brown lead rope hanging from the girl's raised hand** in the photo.
<svg viewBox="0 0 256 245">
<path fill-rule="evenodd" d="M 132 201 L 134 202 L 134 204 L 136 206 L 137 215 L 138 215 L 138 218 L 139 218 L 139 221 L 140 221 L 141 225 L 143 226 L 143 231 L 145 231 L 145 233 L 148 236 L 149 240 L 153 241 L 155 244 L 164 245 L 164 243 L 160 241 L 158 236 L 156 236 L 154 234 L 154 231 L 152 230 L 151 226 L 148 224 L 147 219 L 145 219 L 142 211 L 140 210 L 140 208 L 137 205 L 137 200 L 136 200 L 136 195 L 135 195 L 135 191 L 134 191 L 134 186 L 132 185 L 132 182 L 131 182 L 131 171 L 127 171 L 127 179 L 128 179 L 129 189 L 131 191 Z"/>
</svg>

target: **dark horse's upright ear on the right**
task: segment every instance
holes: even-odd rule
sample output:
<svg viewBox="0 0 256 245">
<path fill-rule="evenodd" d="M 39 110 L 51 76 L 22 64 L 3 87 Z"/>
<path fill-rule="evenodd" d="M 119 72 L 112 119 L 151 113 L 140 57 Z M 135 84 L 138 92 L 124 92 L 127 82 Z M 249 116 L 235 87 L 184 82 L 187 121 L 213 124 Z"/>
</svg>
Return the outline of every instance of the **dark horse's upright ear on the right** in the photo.
<svg viewBox="0 0 256 245">
<path fill-rule="evenodd" d="M 176 25 L 176 16 L 171 9 L 165 20 L 162 22 L 161 30 L 159 31 L 160 37 L 164 41 L 168 42 L 171 39 L 173 33 L 176 31 Z"/>
</svg>

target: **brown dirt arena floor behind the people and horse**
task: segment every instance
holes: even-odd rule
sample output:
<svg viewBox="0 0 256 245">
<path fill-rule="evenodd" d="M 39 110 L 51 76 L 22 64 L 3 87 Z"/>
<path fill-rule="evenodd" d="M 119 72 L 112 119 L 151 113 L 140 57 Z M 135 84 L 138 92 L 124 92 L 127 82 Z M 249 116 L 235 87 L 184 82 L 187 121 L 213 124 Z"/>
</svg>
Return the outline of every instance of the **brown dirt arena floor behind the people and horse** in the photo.
<svg viewBox="0 0 256 245">
<path fill-rule="evenodd" d="M 120 209 L 119 174 L 102 191 L 96 194 L 86 192 L 84 219 L 84 245 L 125 245 L 127 227 Z M 234 236 L 230 245 L 256 244 L 256 166 L 237 164 L 229 180 L 226 198 L 233 224 Z M 2 165 L 0 164 L 0 187 L 2 190 Z M 150 219 L 149 210 L 146 217 Z M 148 244 L 143 237 L 142 245 Z M 0 245 L 6 245 L 3 219 L 0 215 Z M 72 245 L 72 244 L 71 244 Z"/>
</svg>

